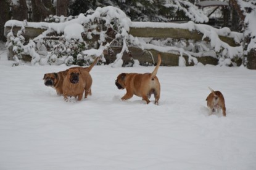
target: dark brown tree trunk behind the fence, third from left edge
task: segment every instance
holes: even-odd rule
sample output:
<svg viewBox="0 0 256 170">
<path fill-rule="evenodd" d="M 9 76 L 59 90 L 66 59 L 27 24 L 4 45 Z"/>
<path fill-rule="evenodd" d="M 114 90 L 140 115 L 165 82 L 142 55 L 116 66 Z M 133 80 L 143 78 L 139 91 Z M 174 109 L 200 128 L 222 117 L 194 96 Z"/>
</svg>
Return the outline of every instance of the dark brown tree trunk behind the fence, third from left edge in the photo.
<svg viewBox="0 0 256 170">
<path fill-rule="evenodd" d="M 32 4 L 32 20 L 34 22 L 44 21 L 44 19 L 54 14 L 54 7 L 51 0 L 31 0 Z"/>
</svg>

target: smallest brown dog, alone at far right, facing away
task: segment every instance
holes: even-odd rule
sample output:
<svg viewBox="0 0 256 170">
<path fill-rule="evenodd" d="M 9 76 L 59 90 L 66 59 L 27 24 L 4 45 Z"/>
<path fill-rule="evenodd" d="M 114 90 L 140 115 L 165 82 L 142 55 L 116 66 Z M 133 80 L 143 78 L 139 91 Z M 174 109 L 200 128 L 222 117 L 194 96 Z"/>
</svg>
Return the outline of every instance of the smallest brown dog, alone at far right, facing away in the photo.
<svg viewBox="0 0 256 170">
<path fill-rule="evenodd" d="M 206 98 L 207 106 L 210 110 L 210 115 L 212 115 L 213 112 L 219 111 L 222 109 L 223 116 L 226 116 L 226 106 L 225 106 L 225 100 L 224 96 L 220 91 L 213 91 L 212 88 L 210 88 L 210 91 L 212 93 L 209 94 L 209 96 Z"/>
</svg>

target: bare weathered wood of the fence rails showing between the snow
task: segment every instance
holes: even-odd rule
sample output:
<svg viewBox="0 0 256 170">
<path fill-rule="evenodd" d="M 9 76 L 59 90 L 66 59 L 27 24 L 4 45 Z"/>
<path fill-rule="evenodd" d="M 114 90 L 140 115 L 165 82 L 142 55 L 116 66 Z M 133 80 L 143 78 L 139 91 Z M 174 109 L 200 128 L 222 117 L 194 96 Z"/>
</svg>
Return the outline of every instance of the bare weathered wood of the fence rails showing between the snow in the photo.
<svg viewBox="0 0 256 170">
<path fill-rule="evenodd" d="M 11 28 L 9 26 L 6 26 L 5 28 L 5 36 L 7 35 L 7 32 Z M 31 28 L 26 27 L 26 33 L 23 35 L 25 39 L 33 39 L 34 37 L 38 36 L 39 34 L 46 31 L 46 29 L 41 28 Z M 12 31 L 14 34 L 17 33 L 17 31 L 20 30 L 20 27 L 14 26 L 12 28 Z M 111 32 L 111 31 L 110 31 Z M 136 28 L 135 26 L 130 27 L 130 32 L 134 37 L 154 37 L 156 39 L 160 38 L 173 38 L 173 39 L 193 39 L 194 41 L 202 41 L 203 34 L 199 33 L 198 31 L 189 31 L 188 29 L 180 29 L 180 28 L 150 28 L 150 27 L 144 27 L 144 28 Z M 109 35 L 110 37 L 113 37 L 114 35 Z M 226 42 L 230 46 L 236 47 L 237 44 L 234 42 L 234 39 L 231 37 L 225 37 L 225 36 L 219 36 L 221 41 Z M 97 41 L 97 37 L 96 40 Z M 205 38 L 204 41 L 209 41 L 209 39 Z M 120 53 L 122 50 L 122 47 L 111 47 L 112 50 L 114 50 L 114 53 Z M 148 49 L 148 50 L 142 50 L 138 47 L 128 47 L 130 50 L 130 53 L 124 53 L 123 54 L 123 61 L 124 64 L 128 63 L 131 60 L 131 57 L 135 60 L 139 60 L 141 64 L 143 63 L 154 63 L 154 61 L 157 61 L 157 53 L 159 51 L 154 49 Z M 12 49 L 10 49 L 12 50 Z M 12 55 L 12 52 L 10 52 L 10 55 Z M 180 54 L 175 52 L 168 52 L 168 53 L 162 53 L 162 65 L 164 66 L 178 66 L 179 63 L 179 57 Z M 9 56 L 12 58 L 12 56 Z M 115 55 L 106 53 L 104 55 L 105 59 L 107 60 L 107 63 L 112 63 L 115 61 L 116 57 Z M 186 60 L 187 66 L 193 66 L 194 63 L 188 62 L 188 56 L 183 55 L 183 57 Z M 218 59 L 213 58 L 211 56 L 200 56 L 197 57 L 197 60 L 202 64 L 218 64 Z M 241 61 L 237 61 L 238 65 L 241 64 Z"/>
</svg>

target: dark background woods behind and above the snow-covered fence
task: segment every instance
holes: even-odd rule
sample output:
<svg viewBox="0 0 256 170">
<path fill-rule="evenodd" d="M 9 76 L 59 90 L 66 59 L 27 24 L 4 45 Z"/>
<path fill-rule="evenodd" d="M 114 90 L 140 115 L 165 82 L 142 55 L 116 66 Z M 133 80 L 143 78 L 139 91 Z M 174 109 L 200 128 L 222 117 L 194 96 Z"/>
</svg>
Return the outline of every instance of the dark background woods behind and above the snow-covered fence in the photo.
<svg viewBox="0 0 256 170">
<path fill-rule="evenodd" d="M 192 3 L 191 3 L 192 2 Z M 78 15 L 85 13 L 89 9 L 95 10 L 97 7 L 115 6 L 122 9 L 132 21 L 170 21 L 173 18 L 186 18 L 196 21 L 192 16 L 198 15 L 195 11 L 189 11 L 189 7 L 194 6 L 193 1 L 185 0 L 1 0 L 1 20 L 0 20 L 0 41 L 6 41 L 3 36 L 4 23 L 7 20 L 28 20 L 44 21 L 49 15 Z M 204 20 L 203 20 L 204 21 Z"/>
</svg>

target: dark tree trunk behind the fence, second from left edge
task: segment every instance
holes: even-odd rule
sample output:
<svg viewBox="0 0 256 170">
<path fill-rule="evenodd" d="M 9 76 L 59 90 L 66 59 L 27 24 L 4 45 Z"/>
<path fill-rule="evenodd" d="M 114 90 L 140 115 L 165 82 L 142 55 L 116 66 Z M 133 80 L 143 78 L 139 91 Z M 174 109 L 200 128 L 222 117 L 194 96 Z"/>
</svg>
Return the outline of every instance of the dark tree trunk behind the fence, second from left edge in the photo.
<svg viewBox="0 0 256 170">
<path fill-rule="evenodd" d="M 28 7 L 26 0 L 19 0 L 19 6 L 12 7 L 12 19 L 13 20 L 28 20 Z"/>
</svg>

